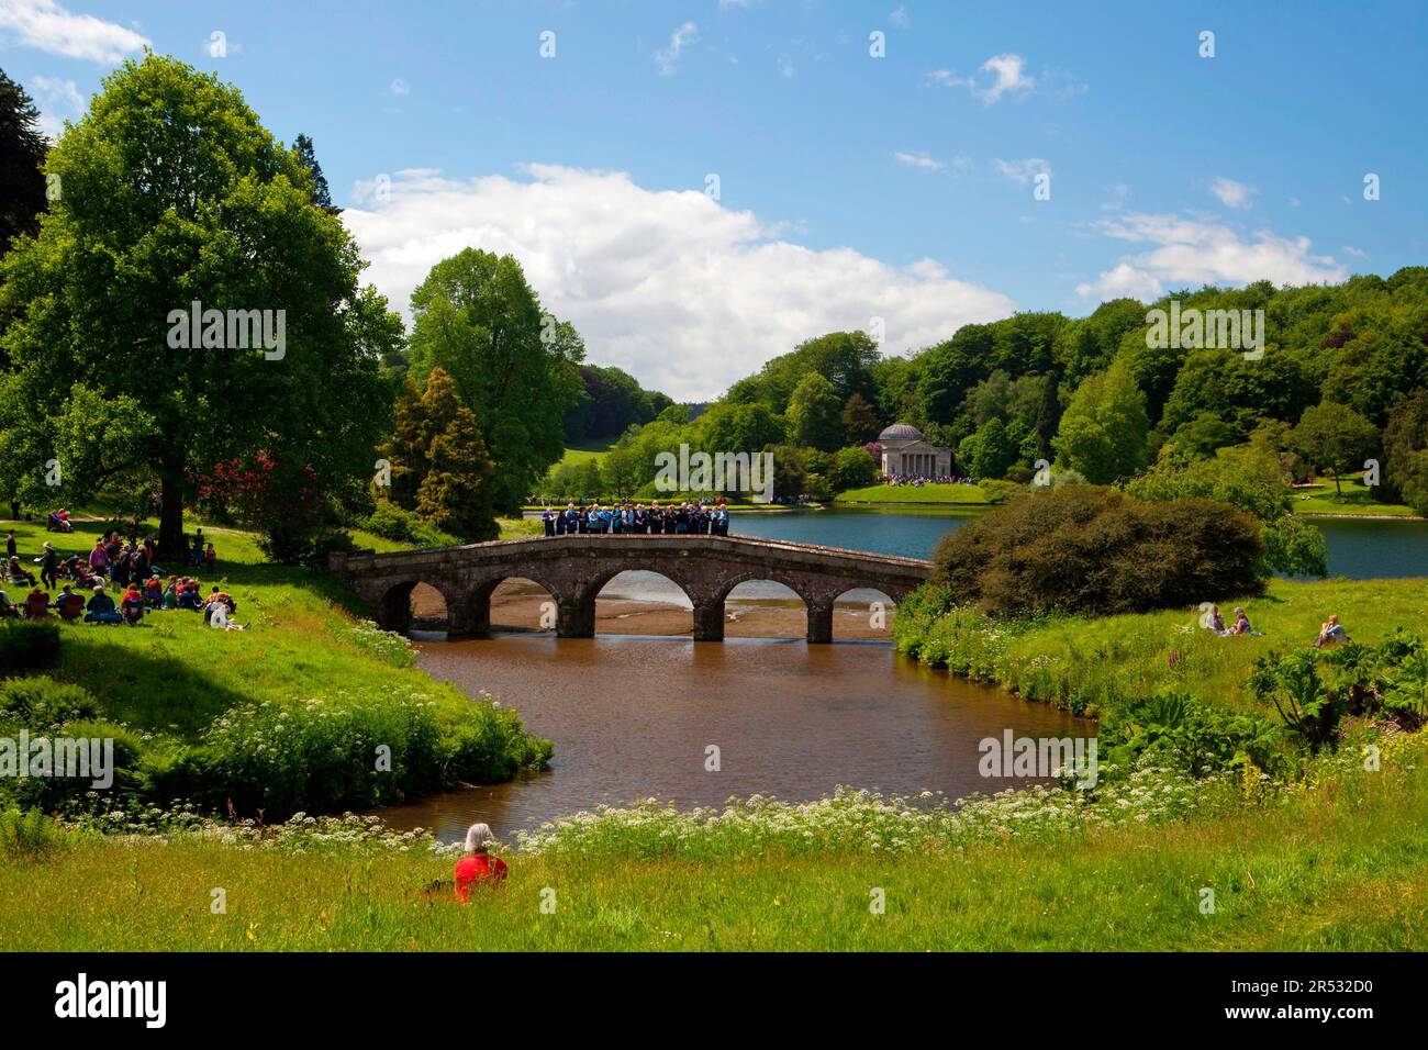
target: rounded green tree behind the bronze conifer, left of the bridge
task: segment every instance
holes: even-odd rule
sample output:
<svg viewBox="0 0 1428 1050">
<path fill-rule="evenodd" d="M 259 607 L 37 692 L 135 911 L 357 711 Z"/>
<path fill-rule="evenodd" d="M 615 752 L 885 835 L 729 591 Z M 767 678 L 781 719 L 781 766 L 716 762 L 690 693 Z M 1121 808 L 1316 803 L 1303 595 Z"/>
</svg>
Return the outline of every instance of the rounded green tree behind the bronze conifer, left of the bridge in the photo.
<svg viewBox="0 0 1428 1050">
<path fill-rule="evenodd" d="M 496 460 L 496 506 L 516 513 L 564 453 L 564 417 L 585 356 L 574 327 L 543 314 L 513 256 L 463 249 L 411 293 L 410 371 L 441 367 Z"/>
</svg>

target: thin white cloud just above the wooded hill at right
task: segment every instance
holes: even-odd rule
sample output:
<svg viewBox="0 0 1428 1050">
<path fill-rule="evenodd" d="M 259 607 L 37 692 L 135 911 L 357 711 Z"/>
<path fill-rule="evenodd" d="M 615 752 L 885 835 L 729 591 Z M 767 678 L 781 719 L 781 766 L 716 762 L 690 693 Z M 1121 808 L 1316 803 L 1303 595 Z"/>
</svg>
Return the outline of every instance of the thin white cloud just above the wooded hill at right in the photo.
<svg viewBox="0 0 1428 1050">
<path fill-rule="evenodd" d="M 1309 254 L 1308 237 L 1279 237 L 1269 230 L 1247 236 L 1222 223 L 1172 214 L 1127 214 L 1094 223 L 1092 229 L 1147 249 L 1122 257 L 1094 281 L 1078 284 L 1081 296 L 1150 300 L 1174 287 L 1257 280 L 1321 284 L 1348 276 L 1332 256 Z"/>
</svg>

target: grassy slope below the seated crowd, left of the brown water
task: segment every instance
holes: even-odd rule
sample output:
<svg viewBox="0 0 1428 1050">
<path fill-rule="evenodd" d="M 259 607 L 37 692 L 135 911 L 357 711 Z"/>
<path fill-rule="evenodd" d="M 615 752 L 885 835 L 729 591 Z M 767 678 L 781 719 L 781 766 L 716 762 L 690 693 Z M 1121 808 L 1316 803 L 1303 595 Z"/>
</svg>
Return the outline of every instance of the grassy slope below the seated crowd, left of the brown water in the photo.
<svg viewBox="0 0 1428 1050">
<path fill-rule="evenodd" d="M 99 529 L 16 531 L 29 564 L 44 540 L 61 554 L 87 551 Z M 253 537 L 238 530 L 204 534 L 220 561 L 203 590 L 230 593 L 247 630 L 210 630 L 181 610 L 151 613 L 139 627 L 59 624 L 59 666 L 41 669 L 87 690 L 93 717 L 126 730 L 134 753 L 121 783 L 136 799 L 220 807 L 231 799 L 244 814 L 264 809 L 271 819 L 506 780 L 550 757 L 550 743 L 527 734 L 511 709 L 414 670 L 407 643 L 364 623 L 340 581 L 261 564 Z M 386 769 L 381 747 L 390 749 Z M 63 801 L 31 800 L 47 809 Z"/>
</svg>

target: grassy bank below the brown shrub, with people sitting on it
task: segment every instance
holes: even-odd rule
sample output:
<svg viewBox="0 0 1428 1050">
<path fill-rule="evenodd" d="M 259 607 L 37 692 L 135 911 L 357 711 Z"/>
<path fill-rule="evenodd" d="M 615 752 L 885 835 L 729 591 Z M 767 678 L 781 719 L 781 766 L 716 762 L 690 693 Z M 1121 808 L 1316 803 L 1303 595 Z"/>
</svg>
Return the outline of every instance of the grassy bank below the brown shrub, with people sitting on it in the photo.
<svg viewBox="0 0 1428 1050">
<path fill-rule="evenodd" d="M 955 674 L 1012 690 L 1028 700 L 1095 714 L 1170 687 L 1215 707 L 1259 710 L 1245 691 L 1255 657 L 1307 646 L 1337 613 L 1355 641 L 1378 643 L 1404 626 L 1428 624 L 1428 580 L 1274 580 L 1244 604 L 1262 637 L 1200 630 L 1200 610 L 1130 616 L 992 621 L 972 610 L 934 619 L 907 604 L 892 634 L 901 651 Z"/>
</svg>

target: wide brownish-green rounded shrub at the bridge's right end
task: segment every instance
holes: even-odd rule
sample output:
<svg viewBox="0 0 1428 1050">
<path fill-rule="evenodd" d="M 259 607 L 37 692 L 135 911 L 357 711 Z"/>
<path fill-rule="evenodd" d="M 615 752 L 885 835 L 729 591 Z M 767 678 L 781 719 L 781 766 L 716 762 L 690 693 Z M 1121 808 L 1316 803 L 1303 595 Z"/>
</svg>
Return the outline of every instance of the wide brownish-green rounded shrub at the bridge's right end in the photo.
<svg viewBox="0 0 1428 1050">
<path fill-rule="evenodd" d="M 987 613 L 1107 616 L 1257 594 L 1262 554 L 1259 526 L 1227 503 L 1077 484 L 990 511 L 932 557 L 934 583 Z"/>
</svg>

